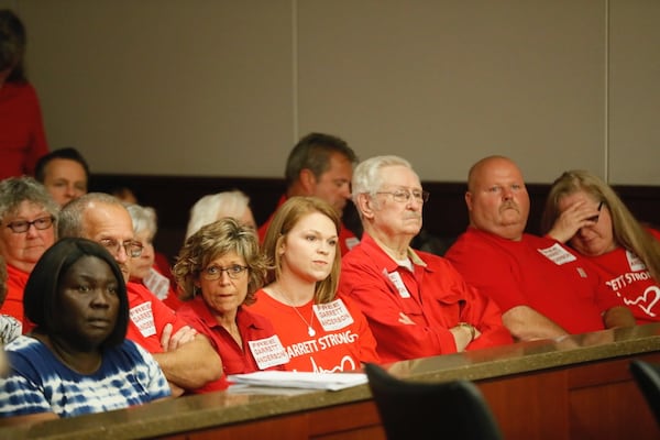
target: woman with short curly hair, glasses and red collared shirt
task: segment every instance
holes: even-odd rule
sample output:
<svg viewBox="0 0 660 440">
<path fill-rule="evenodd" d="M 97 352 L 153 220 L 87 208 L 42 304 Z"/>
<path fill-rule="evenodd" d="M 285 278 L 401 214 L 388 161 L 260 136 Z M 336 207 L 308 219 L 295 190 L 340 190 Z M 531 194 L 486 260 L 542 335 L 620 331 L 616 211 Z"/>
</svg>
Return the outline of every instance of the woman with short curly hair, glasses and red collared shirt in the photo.
<svg viewBox="0 0 660 440">
<path fill-rule="evenodd" d="M 254 302 L 267 267 L 254 229 L 233 218 L 201 227 L 174 265 L 185 301 L 177 315 L 209 338 L 226 375 L 282 370 L 288 361 L 271 321 L 243 307 Z M 197 393 L 224 387 L 220 380 Z"/>
</svg>

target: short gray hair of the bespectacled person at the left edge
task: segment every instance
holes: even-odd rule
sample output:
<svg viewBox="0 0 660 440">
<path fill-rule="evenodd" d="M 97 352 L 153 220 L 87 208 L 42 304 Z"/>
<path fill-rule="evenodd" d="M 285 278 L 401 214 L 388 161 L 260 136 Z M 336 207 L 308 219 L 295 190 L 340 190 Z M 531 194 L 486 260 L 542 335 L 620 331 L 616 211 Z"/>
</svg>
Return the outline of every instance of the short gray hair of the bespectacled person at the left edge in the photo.
<svg viewBox="0 0 660 440">
<path fill-rule="evenodd" d="M 0 182 L 0 221 L 16 212 L 23 201 L 38 205 L 53 216 L 53 228 L 57 230 L 59 206 L 46 187 L 29 176 L 9 177 Z"/>
</svg>

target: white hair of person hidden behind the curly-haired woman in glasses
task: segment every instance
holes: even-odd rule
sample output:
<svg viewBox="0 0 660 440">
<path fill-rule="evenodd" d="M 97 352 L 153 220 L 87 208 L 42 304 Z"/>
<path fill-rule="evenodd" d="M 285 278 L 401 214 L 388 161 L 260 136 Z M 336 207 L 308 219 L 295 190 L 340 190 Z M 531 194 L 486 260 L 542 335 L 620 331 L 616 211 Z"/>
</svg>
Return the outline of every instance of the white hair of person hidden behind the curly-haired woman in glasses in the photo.
<svg viewBox="0 0 660 440">
<path fill-rule="evenodd" d="M 249 206 L 250 198 L 238 189 L 204 196 L 190 208 L 186 239 L 216 220 L 226 217 L 240 218 Z"/>
</svg>

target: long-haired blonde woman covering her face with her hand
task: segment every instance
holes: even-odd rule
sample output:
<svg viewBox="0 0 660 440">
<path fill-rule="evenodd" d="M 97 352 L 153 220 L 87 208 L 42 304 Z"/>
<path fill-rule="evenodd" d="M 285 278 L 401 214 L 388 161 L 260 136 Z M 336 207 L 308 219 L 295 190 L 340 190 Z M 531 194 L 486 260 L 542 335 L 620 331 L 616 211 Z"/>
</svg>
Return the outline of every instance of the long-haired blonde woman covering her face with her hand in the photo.
<svg viewBox="0 0 660 440">
<path fill-rule="evenodd" d="M 642 226 L 617 194 L 586 170 L 550 188 L 541 231 L 588 257 L 637 323 L 660 321 L 660 231 Z"/>
</svg>

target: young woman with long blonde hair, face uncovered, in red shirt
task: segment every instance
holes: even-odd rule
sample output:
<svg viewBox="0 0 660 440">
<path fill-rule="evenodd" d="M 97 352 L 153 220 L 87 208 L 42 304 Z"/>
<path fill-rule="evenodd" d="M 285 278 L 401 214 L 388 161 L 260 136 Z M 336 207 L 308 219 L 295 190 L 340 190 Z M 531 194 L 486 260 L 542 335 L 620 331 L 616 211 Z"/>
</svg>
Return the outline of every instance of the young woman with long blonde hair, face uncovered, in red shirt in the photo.
<svg viewBox="0 0 660 440">
<path fill-rule="evenodd" d="M 275 326 L 288 371 L 341 372 L 380 362 L 366 318 L 337 294 L 340 228 L 328 202 L 292 197 L 267 229 L 262 249 L 275 267 L 251 309 Z"/>
</svg>

